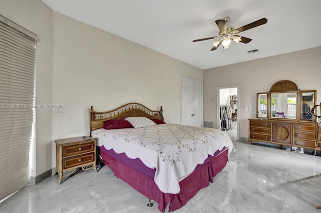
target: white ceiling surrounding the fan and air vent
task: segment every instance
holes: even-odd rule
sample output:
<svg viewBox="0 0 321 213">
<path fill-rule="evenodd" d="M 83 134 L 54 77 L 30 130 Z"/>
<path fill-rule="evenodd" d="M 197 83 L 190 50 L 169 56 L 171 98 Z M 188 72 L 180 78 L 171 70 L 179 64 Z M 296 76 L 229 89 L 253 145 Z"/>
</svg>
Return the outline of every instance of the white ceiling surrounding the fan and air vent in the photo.
<svg viewBox="0 0 321 213">
<path fill-rule="evenodd" d="M 42 0 L 53 10 L 202 69 L 321 46 L 321 0 Z M 217 19 L 230 16 L 247 44 L 210 51 Z M 246 51 L 258 49 L 248 54 Z"/>
</svg>

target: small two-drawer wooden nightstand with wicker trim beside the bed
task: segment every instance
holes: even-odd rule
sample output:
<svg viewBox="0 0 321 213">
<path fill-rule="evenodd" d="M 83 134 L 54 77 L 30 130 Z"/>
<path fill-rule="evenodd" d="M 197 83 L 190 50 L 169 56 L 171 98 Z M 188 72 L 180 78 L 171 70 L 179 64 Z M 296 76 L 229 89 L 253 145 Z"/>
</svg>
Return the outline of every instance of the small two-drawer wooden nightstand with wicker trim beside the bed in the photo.
<svg viewBox="0 0 321 213">
<path fill-rule="evenodd" d="M 96 168 L 96 138 L 71 137 L 55 140 L 56 143 L 56 171 L 59 173 L 59 184 L 66 176 L 73 174 L 76 168 L 83 170 Z"/>
</svg>

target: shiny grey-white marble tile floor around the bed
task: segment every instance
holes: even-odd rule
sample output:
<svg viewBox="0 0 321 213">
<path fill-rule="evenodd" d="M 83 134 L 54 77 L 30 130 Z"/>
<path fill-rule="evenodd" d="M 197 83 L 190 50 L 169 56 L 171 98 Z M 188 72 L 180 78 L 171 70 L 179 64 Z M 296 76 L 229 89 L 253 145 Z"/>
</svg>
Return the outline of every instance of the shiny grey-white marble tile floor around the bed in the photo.
<svg viewBox="0 0 321 213">
<path fill-rule="evenodd" d="M 227 166 L 175 213 L 321 212 L 321 157 L 234 140 Z M 160 212 L 157 203 L 107 166 L 27 185 L 0 203 L 4 212 Z"/>
</svg>

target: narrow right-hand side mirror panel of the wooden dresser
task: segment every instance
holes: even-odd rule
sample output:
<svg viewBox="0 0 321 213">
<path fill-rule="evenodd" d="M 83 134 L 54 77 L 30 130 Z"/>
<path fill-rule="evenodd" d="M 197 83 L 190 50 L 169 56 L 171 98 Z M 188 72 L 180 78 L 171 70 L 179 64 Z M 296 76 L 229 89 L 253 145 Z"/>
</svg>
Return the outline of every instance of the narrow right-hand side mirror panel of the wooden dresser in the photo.
<svg viewBox="0 0 321 213">
<path fill-rule="evenodd" d="M 313 120 L 313 114 L 311 109 L 315 104 L 316 90 L 302 90 L 300 92 L 301 96 L 301 120 Z"/>
</svg>

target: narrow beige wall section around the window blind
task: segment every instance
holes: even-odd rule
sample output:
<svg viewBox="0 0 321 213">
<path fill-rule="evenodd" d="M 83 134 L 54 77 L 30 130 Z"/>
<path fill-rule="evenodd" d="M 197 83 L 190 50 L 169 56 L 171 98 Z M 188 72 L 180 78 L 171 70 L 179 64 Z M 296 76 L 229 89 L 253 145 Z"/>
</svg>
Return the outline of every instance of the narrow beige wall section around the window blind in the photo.
<svg viewBox="0 0 321 213">
<path fill-rule="evenodd" d="M 52 103 L 53 24 L 52 9 L 41 0 L 1 0 L 0 14 L 37 34 L 36 104 Z M 31 176 L 52 165 L 52 109 L 37 108 L 35 135 L 37 162 Z M 33 161 L 36 160 L 34 157 Z"/>
</svg>

